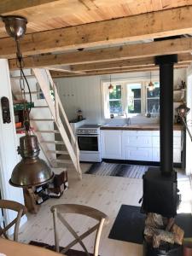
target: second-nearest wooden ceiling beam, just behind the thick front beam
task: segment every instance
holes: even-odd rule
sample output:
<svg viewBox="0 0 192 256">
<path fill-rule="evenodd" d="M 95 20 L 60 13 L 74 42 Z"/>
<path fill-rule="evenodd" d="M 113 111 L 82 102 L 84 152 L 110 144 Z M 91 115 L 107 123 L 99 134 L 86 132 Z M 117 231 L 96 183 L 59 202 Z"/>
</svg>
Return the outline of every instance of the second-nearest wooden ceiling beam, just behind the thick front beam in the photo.
<svg viewBox="0 0 192 256">
<path fill-rule="evenodd" d="M 179 61 L 192 61 L 192 56 L 189 55 L 189 52 L 192 52 L 192 38 L 181 38 L 152 42 L 148 44 L 131 44 L 106 49 L 76 51 L 60 55 L 37 55 L 24 58 L 24 63 L 26 68 L 48 67 L 55 65 L 77 65 L 96 62 L 102 63 L 105 61 L 122 61 L 127 59 L 153 57 L 156 55 L 182 53 L 188 54 L 179 55 Z M 152 61 L 152 59 L 149 60 Z M 149 64 L 153 63 L 149 61 Z M 18 69 L 15 59 L 9 60 L 9 68 L 12 70 Z"/>
</svg>

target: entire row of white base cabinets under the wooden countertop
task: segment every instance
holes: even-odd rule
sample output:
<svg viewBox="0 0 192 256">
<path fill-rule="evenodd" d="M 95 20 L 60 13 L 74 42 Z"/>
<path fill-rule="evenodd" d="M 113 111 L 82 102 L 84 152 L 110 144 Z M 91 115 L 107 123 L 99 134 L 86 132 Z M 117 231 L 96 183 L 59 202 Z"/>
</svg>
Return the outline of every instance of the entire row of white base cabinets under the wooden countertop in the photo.
<svg viewBox="0 0 192 256">
<path fill-rule="evenodd" d="M 101 131 L 102 158 L 160 161 L 160 131 Z M 173 161 L 181 163 L 181 131 L 174 131 Z"/>
</svg>

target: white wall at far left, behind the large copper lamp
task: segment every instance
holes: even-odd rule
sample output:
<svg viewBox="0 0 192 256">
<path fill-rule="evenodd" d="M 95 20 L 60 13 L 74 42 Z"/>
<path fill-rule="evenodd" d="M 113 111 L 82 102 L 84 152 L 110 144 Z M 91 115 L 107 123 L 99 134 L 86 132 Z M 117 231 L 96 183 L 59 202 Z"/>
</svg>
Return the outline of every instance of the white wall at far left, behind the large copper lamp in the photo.
<svg viewBox="0 0 192 256">
<path fill-rule="evenodd" d="M 19 162 L 17 154 L 17 137 L 15 132 L 15 115 L 9 79 L 8 61 L 0 59 L 0 98 L 9 98 L 11 123 L 3 124 L 2 108 L 0 110 L 0 188 L 3 199 L 18 201 L 23 204 L 22 189 L 15 188 L 9 184 L 9 179 L 15 165 Z M 15 212 L 7 212 L 7 219 L 15 218 Z M 22 218 L 21 223 L 26 218 Z"/>
</svg>

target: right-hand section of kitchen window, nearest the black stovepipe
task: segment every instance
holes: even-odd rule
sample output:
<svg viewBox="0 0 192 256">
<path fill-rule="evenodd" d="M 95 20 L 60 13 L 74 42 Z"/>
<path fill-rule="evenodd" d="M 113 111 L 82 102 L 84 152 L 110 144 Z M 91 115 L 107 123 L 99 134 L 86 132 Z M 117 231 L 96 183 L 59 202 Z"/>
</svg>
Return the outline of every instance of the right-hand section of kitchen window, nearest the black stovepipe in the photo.
<svg viewBox="0 0 192 256">
<path fill-rule="evenodd" d="M 147 112 L 160 113 L 160 83 L 154 82 L 154 90 L 147 90 Z"/>
</svg>

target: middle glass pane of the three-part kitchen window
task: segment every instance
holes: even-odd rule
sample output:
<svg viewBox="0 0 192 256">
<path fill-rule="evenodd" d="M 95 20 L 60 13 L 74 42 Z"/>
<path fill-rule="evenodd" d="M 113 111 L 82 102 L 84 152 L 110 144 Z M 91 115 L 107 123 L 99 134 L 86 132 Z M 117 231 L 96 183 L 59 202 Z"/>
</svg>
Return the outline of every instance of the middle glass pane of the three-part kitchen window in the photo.
<svg viewBox="0 0 192 256">
<path fill-rule="evenodd" d="M 142 84 L 128 84 L 128 113 L 141 113 Z"/>
</svg>

